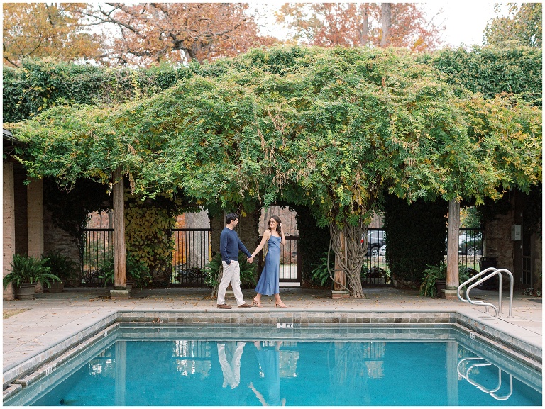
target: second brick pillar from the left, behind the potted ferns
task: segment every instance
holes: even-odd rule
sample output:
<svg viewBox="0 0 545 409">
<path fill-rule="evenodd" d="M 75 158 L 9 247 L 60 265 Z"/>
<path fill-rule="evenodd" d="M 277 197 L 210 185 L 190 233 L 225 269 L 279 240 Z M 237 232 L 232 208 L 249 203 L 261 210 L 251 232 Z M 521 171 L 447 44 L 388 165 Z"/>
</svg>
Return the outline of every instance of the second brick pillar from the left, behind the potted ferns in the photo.
<svg viewBox="0 0 545 409">
<path fill-rule="evenodd" d="M 40 258 L 43 254 L 43 180 L 31 178 L 26 186 L 27 197 L 27 237 L 28 255 Z M 43 293 L 41 283 L 36 284 L 36 292 Z"/>
</svg>

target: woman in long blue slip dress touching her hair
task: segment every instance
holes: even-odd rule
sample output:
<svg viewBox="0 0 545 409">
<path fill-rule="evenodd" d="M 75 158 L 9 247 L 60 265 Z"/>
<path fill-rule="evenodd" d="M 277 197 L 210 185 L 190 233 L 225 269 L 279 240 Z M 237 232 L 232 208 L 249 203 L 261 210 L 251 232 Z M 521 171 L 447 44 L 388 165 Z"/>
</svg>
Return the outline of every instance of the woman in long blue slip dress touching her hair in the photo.
<svg viewBox="0 0 545 409">
<path fill-rule="evenodd" d="M 258 293 L 253 299 L 252 305 L 257 307 L 263 307 L 260 303 L 261 296 L 275 296 L 275 307 L 285 308 L 285 303 L 282 303 L 280 299 L 280 244 L 286 244 L 286 237 L 284 237 L 284 230 L 282 230 L 282 220 L 278 216 L 271 216 L 269 220 L 269 228 L 263 232 L 263 239 L 259 243 L 258 247 L 252 253 L 252 257 L 258 254 L 265 242 L 268 243 L 269 250 L 265 257 L 265 267 L 261 272 L 258 286 L 255 287 L 255 291 Z"/>
</svg>

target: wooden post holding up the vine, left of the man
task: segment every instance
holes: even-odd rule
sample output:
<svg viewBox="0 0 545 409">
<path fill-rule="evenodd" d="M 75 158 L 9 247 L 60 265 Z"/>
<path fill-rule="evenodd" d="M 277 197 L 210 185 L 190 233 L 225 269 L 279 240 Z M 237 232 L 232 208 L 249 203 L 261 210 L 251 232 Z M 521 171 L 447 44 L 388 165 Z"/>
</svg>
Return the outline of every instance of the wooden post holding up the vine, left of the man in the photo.
<svg viewBox="0 0 545 409">
<path fill-rule="evenodd" d="M 126 288 L 127 267 L 125 254 L 125 199 L 121 168 L 117 168 L 114 179 L 114 288 Z"/>
</svg>

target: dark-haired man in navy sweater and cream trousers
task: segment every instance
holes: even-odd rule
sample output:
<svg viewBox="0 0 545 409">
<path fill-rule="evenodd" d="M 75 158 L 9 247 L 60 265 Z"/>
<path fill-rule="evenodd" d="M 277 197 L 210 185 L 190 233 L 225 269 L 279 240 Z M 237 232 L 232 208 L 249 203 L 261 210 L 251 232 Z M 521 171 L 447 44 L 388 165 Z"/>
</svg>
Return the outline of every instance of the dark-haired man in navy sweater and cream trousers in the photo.
<svg viewBox="0 0 545 409">
<path fill-rule="evenodd" d="M 248 256 L 248 263 L 253 262 L 253 257 L 242 244 L 241 239 L 238 238 L 234 230 L 238 225 L 238 214 L 229 213 L 225 216 L 225 221 L 227 225 L 219 236 L 219 251 L 221 252 L 221 264 L 224 266 L 224 275 L 221 277 L 218 288 L 218 308 L 231 309 L 225 303 L 225 291 L 227 290 L 227 286 L 229 286 L 229 282 L 231 282 L 231 287 L 233 287 L 233 294 L 235 295 L 238 308 L 252 308 L 252 306 L 244 301 L 241 291 L 241 267 L 238 264 L 238 250 L 241 250 L 241 252 Z"/>
</svg>

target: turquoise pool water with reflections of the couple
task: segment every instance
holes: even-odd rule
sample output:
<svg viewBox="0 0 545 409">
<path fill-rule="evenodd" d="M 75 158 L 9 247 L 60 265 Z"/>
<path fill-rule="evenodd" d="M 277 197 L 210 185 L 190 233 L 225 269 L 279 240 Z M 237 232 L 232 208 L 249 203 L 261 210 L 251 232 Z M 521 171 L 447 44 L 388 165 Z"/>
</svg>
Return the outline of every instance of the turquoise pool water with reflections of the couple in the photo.
<svg viewBox="0 0 545 409">
<path fill-rule="evenodd" d="M 326 340 L 328 335 L 334 339 Z M 287 333 L 270 326 L 160 325 L 118 325 L 88 351 L 4 401 L 40 406 L 541 403 L 539 371 L 452 327 Z"/>
</svg>

